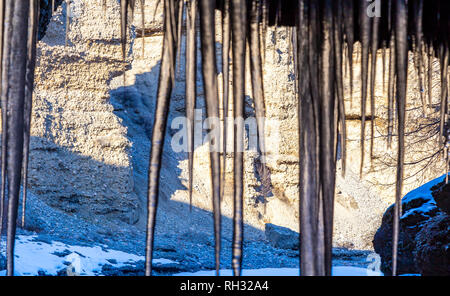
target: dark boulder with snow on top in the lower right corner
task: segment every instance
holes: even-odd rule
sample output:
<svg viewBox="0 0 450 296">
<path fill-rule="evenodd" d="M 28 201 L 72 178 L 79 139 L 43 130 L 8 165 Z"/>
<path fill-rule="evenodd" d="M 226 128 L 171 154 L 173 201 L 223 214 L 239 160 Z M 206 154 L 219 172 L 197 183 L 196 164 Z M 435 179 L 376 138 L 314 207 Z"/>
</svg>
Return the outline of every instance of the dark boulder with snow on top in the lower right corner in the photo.
<svg viewBox="0 0 450 296">
<path fill-rule="evenodd" d="M 442 178 L 433 180 L 416 190 L 411 191 L 402 199 L 402 214 L 400 217 L 400 232 L 398 244 L 397 272 L 398 274 L 420 273 L 432 274 L 433 260 L 441 258 L 441 264 L 447 267 L 437 267 L 437 270 L 448 268 L 448 261 L 444 259 L 448 252 L 442 235 L 449 236 L 447 214 L 437 206 L 433 196 L 442 192 Z M 449 190 L 450 191 L 450 190 Z M 447 193 L 445 193 L 447 194 Z M 392 274 L 392 230 L 394 205 L 391 205 L 383 215 L 380 228 L 377 230 L 373 246 L 381 257 L 381 270 L 385 275 Z M 447 225 L 437 231 L 436 219 L 440 226 Z M 447 232 L 446 232 L 447 231 Z M 447 254 L 447 253 L 446 253 Z"/>
</svg>

